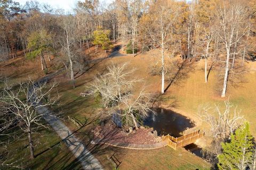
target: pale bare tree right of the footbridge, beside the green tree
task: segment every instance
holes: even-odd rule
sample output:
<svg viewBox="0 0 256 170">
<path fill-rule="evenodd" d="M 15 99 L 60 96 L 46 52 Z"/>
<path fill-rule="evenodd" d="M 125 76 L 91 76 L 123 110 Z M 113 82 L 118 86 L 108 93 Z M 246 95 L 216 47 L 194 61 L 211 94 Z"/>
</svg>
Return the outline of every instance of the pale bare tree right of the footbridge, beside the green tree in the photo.
<svg viewBox="0 0 256 170">
<path fill-rule="evenodd" d="M 221 154 L 221 142 L 229 139 L 230 134 L 233 134 L 239 126 L 244 122 L 243 116 L 237 113 L 236 107 L 231 111 L 233 105 L 229 100 L 225 101 L 225 109 L 222 112 L 219 105 L 214 108 L 209 105 L 199 107 L 198 115 L 201 120 L 210 126 L 210 132 L 213 141 L 210 146 L 203 149 L 203 155 L 213 166 L 218 163 L 217 156 Z"/>
</svg>

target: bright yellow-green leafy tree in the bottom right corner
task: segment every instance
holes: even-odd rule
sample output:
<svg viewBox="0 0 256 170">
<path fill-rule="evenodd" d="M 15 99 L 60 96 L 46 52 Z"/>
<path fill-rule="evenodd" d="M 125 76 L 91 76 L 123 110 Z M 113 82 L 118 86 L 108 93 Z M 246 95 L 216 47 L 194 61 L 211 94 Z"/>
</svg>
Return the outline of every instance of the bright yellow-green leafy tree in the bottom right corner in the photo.
<svg viewBox="0 0 256 170">
<path fill-rule="evenodd" d="M 252 138 L 249 123 L 245 122 L 235 134 L 231 134 L 230 142 L 221 143 L 223 152 L 218 156 L 219 169 L 246 169 L 252 156 Z"/>
</svg>

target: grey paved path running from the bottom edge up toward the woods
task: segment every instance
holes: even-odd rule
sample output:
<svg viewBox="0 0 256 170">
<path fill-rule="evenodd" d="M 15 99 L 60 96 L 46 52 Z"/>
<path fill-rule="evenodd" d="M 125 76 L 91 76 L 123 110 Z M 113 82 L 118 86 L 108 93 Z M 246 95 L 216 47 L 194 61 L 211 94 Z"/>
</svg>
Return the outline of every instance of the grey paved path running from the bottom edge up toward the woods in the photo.
<svg viewBox="0 0 256 170">
<path fill-rule="evenodd" d="M 120 54 L 119 48 L 116 47 L 113 50 L 113 52 L 107 57 L 91 60 L 89 61 L 89 63 L 94 63 L 101 60 L 105 60 L 107 58 L 119 57 L 119 56 L 126 56 L 126 55 Z M 65 69 L 60 69 L 57 72 L 51 73 L 39 79 L 37 82 L 35 82 L 34 86 L 37 86 L 37 83 L 48 82 L 50 79 L 58 75 L 63 70 Z M 52 116 L 54 114 L 51 114 L 52 113 L 51 109 L 49 109 L 46 106 L 38 106 L 36 107 L 36 111 L 39 114 L 43 114 L 44 119 L 47 121 L 47 123 L 50 124 L 52 129 L 54 129 L 54 131 L 60 136 L 63 142 L 66 143 L 66 146 L 69 148 L 71 152 L 73 152 L 73 155 L 79 160 L 83 169 L 94 169 L 94 170 L 103 169 L 99 160 L 95 158 L 89 150 L 86 149 L 83 142 L 79 141 L 75 137 L 74 133 L 71 130 L 69 130 L 69 128 L 65 124 L 63 124 L 57 117 Z"/>
</svg>

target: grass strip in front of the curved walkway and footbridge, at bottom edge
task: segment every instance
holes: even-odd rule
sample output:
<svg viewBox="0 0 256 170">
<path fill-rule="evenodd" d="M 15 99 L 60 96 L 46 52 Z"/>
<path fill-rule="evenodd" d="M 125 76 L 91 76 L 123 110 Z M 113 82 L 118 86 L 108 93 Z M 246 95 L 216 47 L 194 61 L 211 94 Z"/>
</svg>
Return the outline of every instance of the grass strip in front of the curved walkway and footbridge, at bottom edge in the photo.
<svg viewBox="0 0 256 170">
<path fill-rule="evenodd" d="M 102 146 L 102 152 L 94 154 L 105 169 L 113 169 L 113 165 L 107 157 L 115 153 L 121 161 L 118 169 L 210 169 L 208 163 L 194 156 L 185 149 L 174 150 L 164 147 L 153 150 L 123 149 L 110 146 Z"/>
</svg>

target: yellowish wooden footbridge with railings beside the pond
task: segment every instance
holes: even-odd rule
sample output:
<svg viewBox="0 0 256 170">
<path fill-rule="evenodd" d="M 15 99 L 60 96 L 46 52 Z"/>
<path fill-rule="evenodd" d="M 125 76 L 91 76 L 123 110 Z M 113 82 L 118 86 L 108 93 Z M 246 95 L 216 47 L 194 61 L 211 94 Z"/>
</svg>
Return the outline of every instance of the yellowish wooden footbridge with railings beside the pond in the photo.
<svg viewBox="0 0 256 170">
<path fill-rule="evenodd" d="M 200 133 L 199 130 L 189 133 L 189 134 L 185 134 L 182 137 L 179 138 L 174 138 L 171 135 L 165 135 L 162 137 L 162 140 L 167 142 L 167 145 L 173 149 L 178 149 L 178 148 L 182 148 L 185 147 L 191 143 L 194 143 L 197 139 L 199 138 L 203 138 L 204 137 L 204 132 Z"/>
</svg>

